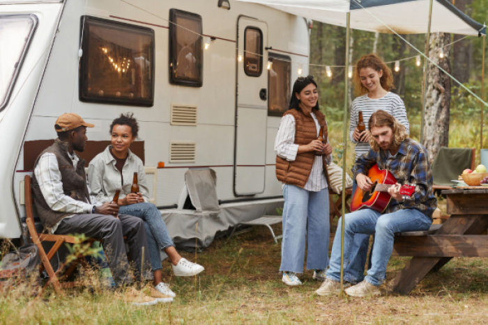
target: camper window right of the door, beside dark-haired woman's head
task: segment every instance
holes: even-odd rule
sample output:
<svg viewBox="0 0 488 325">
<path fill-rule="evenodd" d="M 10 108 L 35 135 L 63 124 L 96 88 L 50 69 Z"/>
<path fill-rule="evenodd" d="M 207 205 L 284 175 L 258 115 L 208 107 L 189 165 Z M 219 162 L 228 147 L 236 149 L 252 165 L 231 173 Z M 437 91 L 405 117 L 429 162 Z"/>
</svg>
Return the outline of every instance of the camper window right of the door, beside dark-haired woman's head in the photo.
<svg viewBox="0 0 488 325">
<path fill-rule="evenodd" d="M 282 116 L 290 99 L 291 58 L 271 53 L 269 57 L 277 60 L 268 70 L 268 116 Z"/>
</svg>

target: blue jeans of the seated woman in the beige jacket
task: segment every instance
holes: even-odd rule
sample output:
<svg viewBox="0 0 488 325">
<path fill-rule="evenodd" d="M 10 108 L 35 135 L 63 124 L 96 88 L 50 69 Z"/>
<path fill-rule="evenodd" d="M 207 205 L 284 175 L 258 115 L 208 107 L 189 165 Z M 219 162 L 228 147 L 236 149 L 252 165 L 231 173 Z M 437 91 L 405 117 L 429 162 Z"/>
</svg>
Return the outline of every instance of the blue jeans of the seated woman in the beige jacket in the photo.
<svg viewBox="0 0 488 325">
<path fill-rule="evenodd" d="M 158 208 L 153 203 L 121 205 L 119 214 L 130 214 L 144 220 L 151 269 L 153 271 L 162 269 L 160 250 L 174 246 L 174 244 Z"/>
</svg>

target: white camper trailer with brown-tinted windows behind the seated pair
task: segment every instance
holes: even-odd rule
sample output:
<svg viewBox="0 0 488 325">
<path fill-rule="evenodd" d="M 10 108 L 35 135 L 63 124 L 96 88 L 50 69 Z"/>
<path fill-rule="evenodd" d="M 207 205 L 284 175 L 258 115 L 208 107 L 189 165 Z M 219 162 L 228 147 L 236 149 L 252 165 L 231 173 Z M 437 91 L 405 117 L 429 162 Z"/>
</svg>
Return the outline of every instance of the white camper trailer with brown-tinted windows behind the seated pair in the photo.
<svg viewBox="0 0 488 325">
<path fill-rule="evenodd" d="M 303 17 L 254 3 L 0 0 L 0 238 L 22 237 L 22 180 L 65 112 L 96 125 L 87 161 L 135 113 L 176 242 L 273 214 L 275 134 L 308 55 Z"/>
</svg>

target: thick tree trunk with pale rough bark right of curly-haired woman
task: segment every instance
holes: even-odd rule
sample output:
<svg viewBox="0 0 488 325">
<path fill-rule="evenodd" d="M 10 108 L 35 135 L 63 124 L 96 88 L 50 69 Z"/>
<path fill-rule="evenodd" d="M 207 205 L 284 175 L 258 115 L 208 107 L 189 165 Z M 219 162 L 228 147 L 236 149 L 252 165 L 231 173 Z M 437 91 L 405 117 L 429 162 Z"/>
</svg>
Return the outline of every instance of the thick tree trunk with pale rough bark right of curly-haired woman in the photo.
<svg viewBox="0 0 488 325">
<path fill-rule="evenodd" d="M 430 35 L 429 58 L 450 73 L 450 34 Z M 448 46 L 445 46 L 448 45 Z M 439 58 L 443 49 L 444 58 Z M 429 151 L 429 161 L 441 147 L 449 144 L 449 110 L 451 81 L 448 75 L 435 65 L 427 65 L 427 93 L 425 101 L 425 125 L 423 145 Z"/>
</svg>

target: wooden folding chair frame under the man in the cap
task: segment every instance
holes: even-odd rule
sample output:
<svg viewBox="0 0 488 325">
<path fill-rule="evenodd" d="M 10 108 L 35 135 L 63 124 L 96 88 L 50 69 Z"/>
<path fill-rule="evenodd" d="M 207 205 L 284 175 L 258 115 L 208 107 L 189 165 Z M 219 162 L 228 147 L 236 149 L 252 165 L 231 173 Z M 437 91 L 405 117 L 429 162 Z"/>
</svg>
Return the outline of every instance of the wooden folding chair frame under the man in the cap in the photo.
<svg viewBox="0 0 488 325">
<path fill-rule="evenodd" d="M 60 280 L 64 278 L 68 278 L 71 274 L 73 274 L 73 271 L 75 271 L 76 267 L 80 263 L 82 264 L 84 269 L 88 269 L 89 264 L 84 259 L 84 256 L 79 255 L 77 257 L 77 260 L 72 262 L 69 265 L 68 269 L 66 269 L 66 272 L 64 272 L 63 274 L 62 274 L 63 268 L 54 271 L 50 262 L 50 260 L 52 259 L 54 254 L 56 254 L 56 252 L 59 250 L 62 244 L 64 243 L 76 244 L 79 241 L 79 239 L 69 235 L 39 234 L 36 230 L 36 226 L 34 225 L 31 176 L 29 175 L 25 175 L 24 177 L 24 193 L 25 193 L 27 227 L 29 228 L 29 234 L 31 235 L 31 239 L 33 243 L 36 244 L 36 246 L 39 249 L 39 256 L 41 261 L 41 264 L 39 266 L 39 271 L 42 272 L 45 269 L 47 271 L 47 274 L 49 275 L 49 280 L 45 284 L 45 288 L 52 283 L 52 286 L 54 287 L 54 290 L 56 290 L 56 293 L 62 294 L 63 293 L 63 290 L 61 289 L 62 287 L 82 286 L 81 282 L 73 281 L 73 282 L 61 283 Z M 54 246 L 52 246 L 51 250 L 47 254 L 43 247 L 43 243 L 42 243 L 43 241 L 49 241 L 54 243 Z M 89 243 L 93 243 L 94 241 L 97 241 L 97 239 L 89 238 L 87 239 L 87 241 Z"/>
</svg>

